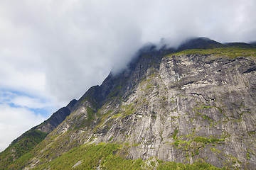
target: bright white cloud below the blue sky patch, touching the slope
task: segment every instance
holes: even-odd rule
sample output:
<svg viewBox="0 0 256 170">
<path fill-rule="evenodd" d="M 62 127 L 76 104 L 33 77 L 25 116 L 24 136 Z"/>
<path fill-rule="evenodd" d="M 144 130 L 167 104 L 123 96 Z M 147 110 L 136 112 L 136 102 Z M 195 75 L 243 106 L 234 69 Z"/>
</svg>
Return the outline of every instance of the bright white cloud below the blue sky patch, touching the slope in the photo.
<svg viewBox="0 0 256 170">
<path fill-rule="evenodd" d="M 26 108 L 11 108 L 9 105 L 0 104 L 0 152 L 23 132 L 45 119 Z"/>
</svg>

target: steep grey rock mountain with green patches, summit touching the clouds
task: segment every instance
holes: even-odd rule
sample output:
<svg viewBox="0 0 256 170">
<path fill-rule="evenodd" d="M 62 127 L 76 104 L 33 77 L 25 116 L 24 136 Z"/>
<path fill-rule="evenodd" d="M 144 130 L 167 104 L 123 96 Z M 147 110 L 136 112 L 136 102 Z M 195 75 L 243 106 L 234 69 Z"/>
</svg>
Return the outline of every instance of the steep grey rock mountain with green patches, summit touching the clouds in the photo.
<svg viewBox="0 0 256 170">
<path fill-rule="evenodd" d="M 255 62 L 255 46 L 208 38 L 144 47 L 1 169 L 255 169 Z"/>
</svg>

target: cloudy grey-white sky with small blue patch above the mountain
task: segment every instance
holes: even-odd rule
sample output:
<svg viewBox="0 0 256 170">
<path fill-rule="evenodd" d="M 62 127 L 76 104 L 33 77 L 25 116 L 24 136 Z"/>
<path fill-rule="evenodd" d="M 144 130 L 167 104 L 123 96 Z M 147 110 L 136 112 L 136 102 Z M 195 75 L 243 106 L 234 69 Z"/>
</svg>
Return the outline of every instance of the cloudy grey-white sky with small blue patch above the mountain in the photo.
<svg viewBox="0 0 256 170">
<path fill-rule="evenodd" d="M 255 0 L 0 0 L 0 151 L 145 43 L 256 40 Z"/>
</svg>

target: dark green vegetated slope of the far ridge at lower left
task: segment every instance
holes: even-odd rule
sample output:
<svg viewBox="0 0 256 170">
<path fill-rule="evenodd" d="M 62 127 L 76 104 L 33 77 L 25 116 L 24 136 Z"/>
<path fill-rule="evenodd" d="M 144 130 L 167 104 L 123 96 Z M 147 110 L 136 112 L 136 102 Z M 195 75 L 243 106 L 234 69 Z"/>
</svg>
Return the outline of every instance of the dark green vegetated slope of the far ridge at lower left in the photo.
<svg viewBox="0 0 256 170">
<path fill-rule="evenodd" d="M 6 167 L 15 159 L 30 152 L 38 143 L 40 143 L 48 134 L 32 128 L 18 137 L 11 145 L 0 154 L 0 169 Z"/>
</svg>

